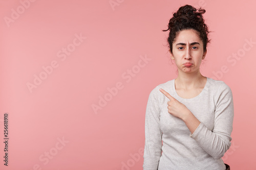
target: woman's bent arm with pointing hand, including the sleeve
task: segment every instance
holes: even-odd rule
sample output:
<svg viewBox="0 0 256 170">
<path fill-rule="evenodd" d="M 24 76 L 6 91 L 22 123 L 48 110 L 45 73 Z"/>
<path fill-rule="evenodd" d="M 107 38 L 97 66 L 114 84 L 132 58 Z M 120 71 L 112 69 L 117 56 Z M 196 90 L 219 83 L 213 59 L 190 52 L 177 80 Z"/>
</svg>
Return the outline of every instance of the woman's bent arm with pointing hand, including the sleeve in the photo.
<svg viewBox="0 0 256 170">
<path fill-rule="evenodd" d="M 201 148 L 215 159 L 220 159 L 231 145 L 231 132 L 233 125 L 233 97 L 231 89 L 223 82 L 218 89 L 215 107 L 214 129 L 210 131 L 200 122 L 185 105 L 170 96 L 166 91 L 160 90 L 170 100 L 168 112 L 181 118 L 190 131 L 189 137 L 195 139 Z"/>
</svg>

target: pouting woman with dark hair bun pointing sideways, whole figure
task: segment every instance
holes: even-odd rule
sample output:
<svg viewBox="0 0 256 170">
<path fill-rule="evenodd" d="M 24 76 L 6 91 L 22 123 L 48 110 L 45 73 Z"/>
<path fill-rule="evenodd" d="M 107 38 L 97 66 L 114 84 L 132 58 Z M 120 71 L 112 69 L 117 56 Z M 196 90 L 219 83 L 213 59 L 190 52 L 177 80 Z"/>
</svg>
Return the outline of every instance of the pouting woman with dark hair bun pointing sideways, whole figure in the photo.
<svg viewBox="0 0 256 170">
<path fill-rule="evenodd" d="M 145 114 L 144 170 L 229 169 L 233 98 L 228 85 L 204 77 L 209 42 L 204 9 L 185 5 L 169 20 L 170 58 L 178 77 L 155 87 Z"/>
</svg>

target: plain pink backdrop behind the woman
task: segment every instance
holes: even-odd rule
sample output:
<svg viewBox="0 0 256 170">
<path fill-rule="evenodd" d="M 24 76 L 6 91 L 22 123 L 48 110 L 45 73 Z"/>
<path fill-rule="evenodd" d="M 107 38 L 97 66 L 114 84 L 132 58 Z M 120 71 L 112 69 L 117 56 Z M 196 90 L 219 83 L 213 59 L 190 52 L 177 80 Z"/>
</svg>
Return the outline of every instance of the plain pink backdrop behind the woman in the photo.
<svg viewBox="0 0 256 170">
<path fill-rule="evenodd" d="M 142 169 L 148 95 L 177 77 L 161 30 L 185 4 L 206 9 L 213 31 L 202 75 L 233 92 L 223 160 L 232 170 L 255 169 L 256 2 L 248 0 L 0 1 L 0 168 Z M 29 89 L 34 76 L 44 80 Z"/>
</svg>

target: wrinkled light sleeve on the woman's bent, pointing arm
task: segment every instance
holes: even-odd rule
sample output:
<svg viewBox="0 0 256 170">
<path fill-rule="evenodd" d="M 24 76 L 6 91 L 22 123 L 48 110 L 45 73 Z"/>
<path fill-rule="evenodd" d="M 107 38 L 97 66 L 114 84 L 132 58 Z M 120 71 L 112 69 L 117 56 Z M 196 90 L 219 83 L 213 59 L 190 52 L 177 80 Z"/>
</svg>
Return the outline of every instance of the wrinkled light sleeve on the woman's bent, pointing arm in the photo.
<svg viewBox="0 0 256 170">
<path fill-rule="evenodd" d="M 201 122 L 190 137 L 195 139 L 201 148 L 215 159 L 220 159 L 231 145 L 233 125 L 233 97 L 231 89 L 223 82 L 218 89 L 215 106 L 214 129 L 208 130 Z"/>
</svg>

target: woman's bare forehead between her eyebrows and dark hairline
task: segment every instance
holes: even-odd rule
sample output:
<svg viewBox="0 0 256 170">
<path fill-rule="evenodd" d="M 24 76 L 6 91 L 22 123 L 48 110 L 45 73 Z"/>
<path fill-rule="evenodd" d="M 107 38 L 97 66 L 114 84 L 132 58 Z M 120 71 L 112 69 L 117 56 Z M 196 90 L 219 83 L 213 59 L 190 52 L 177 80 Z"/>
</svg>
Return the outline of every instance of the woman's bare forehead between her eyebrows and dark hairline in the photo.
<svg viewBox="0 0 256 170">
<path fill-rule="evenodd" d="M 174 42 L 202 42 L 196 30 L 182 30 L 177 33 L 177 37 Z"/>
</svg>

